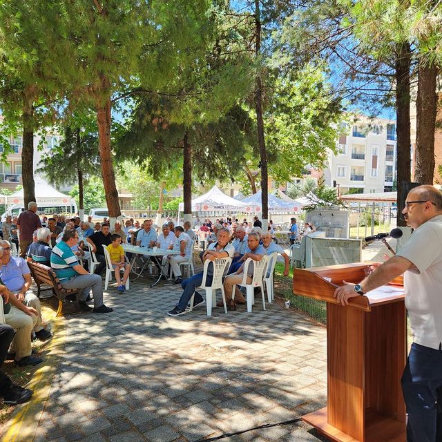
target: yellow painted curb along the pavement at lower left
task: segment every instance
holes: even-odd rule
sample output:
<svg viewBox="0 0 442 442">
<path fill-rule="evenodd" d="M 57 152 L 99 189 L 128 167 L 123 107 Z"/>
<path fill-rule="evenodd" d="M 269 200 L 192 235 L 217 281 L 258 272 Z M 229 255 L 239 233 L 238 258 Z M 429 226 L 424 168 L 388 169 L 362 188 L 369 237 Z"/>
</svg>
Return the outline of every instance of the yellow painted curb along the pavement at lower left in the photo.
<svg viewBox="0 0 442 442">
<path fill-rule="evenodd" d="M 53 310 L 51 309 L 50 311 Z M 52 338 L 48 347 L 48 355 L 43 366 L 37 369 L 27 388 L 34 391 L 27 403 L 17 406 L 8 423 L 8 429 L 1 442 L 31 442 L 35 438 L 41 414 L 48 400 L 50 385 L 57 370 L 57 360 L 64 351 L 66 340 L 66 323 L 63 316 L 55 316 L 52 322 Z"/>
</svg>

